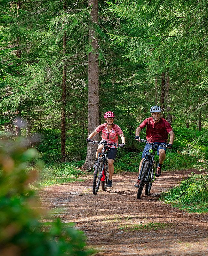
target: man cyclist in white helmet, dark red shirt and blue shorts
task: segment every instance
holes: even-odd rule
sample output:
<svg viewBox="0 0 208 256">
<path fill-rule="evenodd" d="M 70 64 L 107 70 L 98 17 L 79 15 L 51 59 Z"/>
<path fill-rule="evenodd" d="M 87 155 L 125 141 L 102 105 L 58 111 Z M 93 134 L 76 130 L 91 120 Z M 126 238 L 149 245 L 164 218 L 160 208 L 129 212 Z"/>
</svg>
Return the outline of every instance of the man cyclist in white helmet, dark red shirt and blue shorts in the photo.
<svg viewBox="0 0 208 256">
<path fill-rule="evenodd" d="M 146 138 L 148 142 L 154 142 L 158 144 L 164 144 L 167 146 L 167 148 L 172 148 L 172 144 L 175 138 L 175 134 L 172 130 L 171 125 L 166 121 L 164 118 L 160 117 L 161 115 L 161 108 L 160 106 L 152 106 L 150 108 L 151 117 L 146 118 L 136 129 L 135 132 L 135 140 L 140 141 L 140 132 L 144 127 L 146 128 Z M 168 140 L 168 134 L 170 134 L 170 141 L 169 144 L 167 144 Z M 142 153 L 142 159 L 140 162 L 139 167 L 139 173 L 141 170 L 141 166 L 144 160 L 145 154 L 148 154 L 150 145 L 146 144 L 144 151 Z M 158 147 L 157 148 L 157 155 L 159 156 L 159 163 L 156 169 L 156 177 L 159 177 L 161 175 L 162 171 L 162 164 L 165 160 L 165 148 Z M 138 177 L 138 180 L 136 181 L 136 184 L 134 185 L 136 188 L 139 187 L 140 179 Z"/>
</svg>

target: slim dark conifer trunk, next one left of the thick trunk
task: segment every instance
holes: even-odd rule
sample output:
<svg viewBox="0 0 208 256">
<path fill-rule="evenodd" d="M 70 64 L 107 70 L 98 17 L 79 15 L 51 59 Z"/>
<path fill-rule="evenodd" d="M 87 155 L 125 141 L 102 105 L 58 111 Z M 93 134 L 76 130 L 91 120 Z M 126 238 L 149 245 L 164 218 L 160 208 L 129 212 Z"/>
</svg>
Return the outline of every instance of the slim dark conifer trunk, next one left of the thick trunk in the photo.
<svg viewBox="0 0 208 256">
<path fill-rule="evenodd" d="M 66 1 L 64 1 L 63 9 L 66 9 Z M 67 32 L 63 35 L 63 58 L 66 53 Z M 67 65 L 64 61 L 62 74 L 62 108 L 61 108 L 61 161 L 66 161 L 66 91 L 67 91 Z"/>
</svg>

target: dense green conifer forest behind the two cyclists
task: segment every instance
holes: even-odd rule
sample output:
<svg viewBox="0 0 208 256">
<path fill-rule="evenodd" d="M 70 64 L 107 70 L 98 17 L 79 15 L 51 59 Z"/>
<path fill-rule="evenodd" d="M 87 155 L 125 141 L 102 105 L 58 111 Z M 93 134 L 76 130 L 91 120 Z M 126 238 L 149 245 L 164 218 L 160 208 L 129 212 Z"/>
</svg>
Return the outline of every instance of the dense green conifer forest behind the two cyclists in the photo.
<svg viewBox="0 0 208 256">
<path fill-rule="evenodd" d="M 197 146 L 206 159 L 207 1 L 98 1 L 97 22 L 95 6 L 1 1 L 1 132 L 36 134 L 33 146 L 46 163 L 84 161 L 93 120 L 103 123 L 110 110 L 126 137 L 122 157 L 141 151 L 135 129 L 157 104 L 176 134 L 175 154 L 183 157 L 191 145 L 189 153 Z M 89 112 L 91 53 L 99 66 L 99 114 Z"/>
</svg>

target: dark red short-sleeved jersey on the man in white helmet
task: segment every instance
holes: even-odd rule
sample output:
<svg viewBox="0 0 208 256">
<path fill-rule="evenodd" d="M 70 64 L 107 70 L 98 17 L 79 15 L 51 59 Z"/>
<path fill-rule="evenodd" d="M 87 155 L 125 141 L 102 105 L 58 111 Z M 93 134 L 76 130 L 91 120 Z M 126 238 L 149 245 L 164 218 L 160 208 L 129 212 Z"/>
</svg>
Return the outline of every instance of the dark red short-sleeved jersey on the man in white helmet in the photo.
<svg viewBox="0 0 208 256">
<path fill-rule="evenodd" d="M 152 117 L 146 118 L 139 127 L 141 130 L 147 126 L 146 138 L 149 142 L 166 142 L 168 133 L 172 131 L 171 125 L 164 118 L 160 118 L 158 123 L 154 123 Z"/>
</svg>

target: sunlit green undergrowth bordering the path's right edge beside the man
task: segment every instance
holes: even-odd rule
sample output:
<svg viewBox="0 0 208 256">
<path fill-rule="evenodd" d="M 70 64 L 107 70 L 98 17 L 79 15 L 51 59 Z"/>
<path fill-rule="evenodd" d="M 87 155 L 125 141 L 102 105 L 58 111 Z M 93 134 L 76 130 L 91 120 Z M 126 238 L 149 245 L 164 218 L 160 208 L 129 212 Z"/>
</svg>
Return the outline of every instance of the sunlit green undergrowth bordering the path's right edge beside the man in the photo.
<svg viewBox="0 0 208 256">
<path fill-rule="evenodd" d="M 164 192 L 161 200 L 187 212 L 208 212 L 208 174 L 192 172 L 178 186 Z"/>
</svg>

